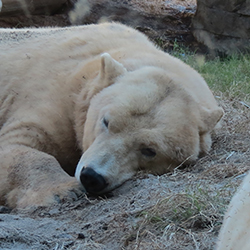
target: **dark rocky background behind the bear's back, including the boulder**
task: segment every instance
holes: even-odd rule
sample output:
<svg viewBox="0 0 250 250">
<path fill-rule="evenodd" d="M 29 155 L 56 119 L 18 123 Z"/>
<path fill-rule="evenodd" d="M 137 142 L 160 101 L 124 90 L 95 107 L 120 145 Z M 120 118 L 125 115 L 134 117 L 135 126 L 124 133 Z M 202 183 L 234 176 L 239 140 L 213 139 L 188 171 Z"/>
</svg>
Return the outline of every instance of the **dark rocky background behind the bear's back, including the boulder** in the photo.
<svg viewBox="0 0 250 250">
<path fill-rule="evenodd" d="M 2 1 L 2 2 L 1 2 Z M 248 0 L 0 0 L 0 27 L 69 26 L 119 21 L 165 50 L 175 43 L 232 54 L 249 49 Z"/>
</svg>

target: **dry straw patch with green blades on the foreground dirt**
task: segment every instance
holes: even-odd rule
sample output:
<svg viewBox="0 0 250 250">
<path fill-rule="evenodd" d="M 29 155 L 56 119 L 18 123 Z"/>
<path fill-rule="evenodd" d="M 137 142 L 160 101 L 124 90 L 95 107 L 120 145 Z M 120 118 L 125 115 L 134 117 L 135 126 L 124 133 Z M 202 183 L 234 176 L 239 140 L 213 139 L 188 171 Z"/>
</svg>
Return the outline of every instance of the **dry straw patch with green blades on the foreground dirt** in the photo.
<svg viewBox="0 0 250 250">
<path fill-rule="evenodd" d="M 190 249 L 203 249 L 208 243 L 206 235 L 218 232 L 222 221 L 225 210 L 222 192 L 222 189 L 215 192 L 196 185 L 159 200 L 138 214 L 142 220 L 128 236 L 126 245 L 133 241 L 133 249 L 174 249 L 181 240 Z"/>
</svg>

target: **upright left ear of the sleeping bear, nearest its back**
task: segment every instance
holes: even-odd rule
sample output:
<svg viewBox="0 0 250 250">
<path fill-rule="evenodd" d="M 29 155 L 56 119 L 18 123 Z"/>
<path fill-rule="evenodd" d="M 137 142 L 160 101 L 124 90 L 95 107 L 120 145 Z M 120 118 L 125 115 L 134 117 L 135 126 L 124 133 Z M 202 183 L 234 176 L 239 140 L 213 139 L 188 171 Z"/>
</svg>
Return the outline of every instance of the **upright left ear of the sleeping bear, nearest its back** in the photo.
<svg viewBox="0 0 250 250">
<path fill-rule="evenodd" d="M 126 73 L 124 66 L 113 59 L 110 54 L 104 53 L 101 55 L 101 74 L 102 80 L 107 81 L 108 85 L 113 84 L 115 79 Z"/>
</svg>

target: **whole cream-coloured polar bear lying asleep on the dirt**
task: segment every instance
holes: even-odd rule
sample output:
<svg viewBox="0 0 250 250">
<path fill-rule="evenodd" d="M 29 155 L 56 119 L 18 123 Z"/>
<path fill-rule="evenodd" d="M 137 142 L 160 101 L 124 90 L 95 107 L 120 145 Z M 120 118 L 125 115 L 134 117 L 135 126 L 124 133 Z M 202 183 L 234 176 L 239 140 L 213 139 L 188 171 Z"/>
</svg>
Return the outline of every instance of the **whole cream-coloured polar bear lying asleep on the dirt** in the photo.
<svg viewBox="0 0 250 250">
<path fill-rule="evenodd" d="M 122 24 L 0 29 L 0 56 L 0 198 L 11 207 L 193 162 L 223 115 L 195 70 Z"/>
</svg>

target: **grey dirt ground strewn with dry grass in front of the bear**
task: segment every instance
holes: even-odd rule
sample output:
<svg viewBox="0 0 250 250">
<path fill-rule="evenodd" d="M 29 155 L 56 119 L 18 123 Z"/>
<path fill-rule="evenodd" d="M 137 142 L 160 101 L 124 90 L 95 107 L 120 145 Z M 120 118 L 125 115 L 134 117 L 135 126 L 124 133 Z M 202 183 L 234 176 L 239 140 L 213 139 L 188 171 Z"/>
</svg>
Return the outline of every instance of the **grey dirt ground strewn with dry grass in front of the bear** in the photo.
<svg viewBox="0 0 250 250">
<path fill-rule="evenodd" d="M 195 165 L 161 176 L 138 173 L 106 197 L 0 207 L 0 249 L 214 249 L 227 204 L 250 169 L 250 109 L 215 96 L 225 116 L 211 152 Z"/>
</svg>

